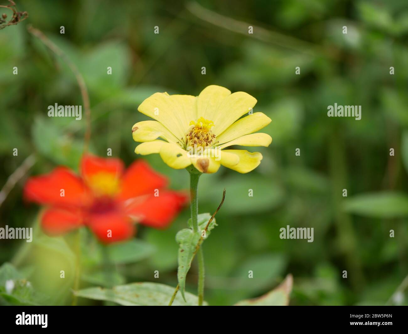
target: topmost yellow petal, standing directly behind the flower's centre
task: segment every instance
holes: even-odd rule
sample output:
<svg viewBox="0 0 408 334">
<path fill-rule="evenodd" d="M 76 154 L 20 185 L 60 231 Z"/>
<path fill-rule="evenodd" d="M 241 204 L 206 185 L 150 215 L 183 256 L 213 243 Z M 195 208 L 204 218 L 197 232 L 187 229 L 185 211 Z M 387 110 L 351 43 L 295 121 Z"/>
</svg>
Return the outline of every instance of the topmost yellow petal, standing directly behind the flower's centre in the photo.
<svg viewBox="0 0 408 334">
<path fill-rule="evenodd" d="M 200 117 L 214 121 L 218 107 L 230 94 L 230 90 L 221 86 L 211 85 L 204 88 L 197 97 L 197 117 L 192 121 L 196 121 Z"/>
</svg>

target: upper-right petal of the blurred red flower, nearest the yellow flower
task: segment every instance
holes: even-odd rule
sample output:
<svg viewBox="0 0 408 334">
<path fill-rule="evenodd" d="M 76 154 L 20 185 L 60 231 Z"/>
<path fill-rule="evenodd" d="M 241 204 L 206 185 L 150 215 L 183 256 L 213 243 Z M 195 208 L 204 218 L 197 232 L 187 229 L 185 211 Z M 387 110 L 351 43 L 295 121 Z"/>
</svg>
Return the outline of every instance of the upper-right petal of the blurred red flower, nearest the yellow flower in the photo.
<svg viewBox="0 0 408 334">
<path fill-rule="evenodd" d="M 122 176 L 122 191 L 119 200 L 126 200 L 145 194 L 154 194 L 167 184 L 167 179 L 156 173 L 144 160 L 136 160 Z"/>
</svg>

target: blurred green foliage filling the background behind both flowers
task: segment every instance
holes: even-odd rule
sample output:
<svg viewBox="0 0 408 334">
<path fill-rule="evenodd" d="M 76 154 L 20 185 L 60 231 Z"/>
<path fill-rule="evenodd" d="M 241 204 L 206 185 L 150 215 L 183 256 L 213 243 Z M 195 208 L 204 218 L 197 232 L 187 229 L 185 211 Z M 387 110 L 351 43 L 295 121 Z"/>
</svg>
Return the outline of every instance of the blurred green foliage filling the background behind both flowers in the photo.
<svg viewBox="0 0 408 334">
<path fill-rule="evenodd" d="M 210 305 L 263 294 L 288 272 L 291 305 L 408 304 L 406 1 L 20 0 L 18 8 L 29 18 L 0 32 L 1 185 L 18 170 L 17 185 L 9 181 L 0 193 L 0 219 L 2 227 L 33 226 L 35 235 L 31 244 L 0 242 L 2 304 L 70 304 L 75 272 L 75 237 L 50 238 L 36 229 L 38 208 L 22 202 L 22 185 L 55 165 L 78 167 L 84 117 L 50 118 L 47 108 L 82 105 L 82 99 L 71 70 L 27 24 L 82 73 L 95 154 L 111 148 L 127 165 L 138 158 L 131 127 L 147 119 L 137 106 L 154 92 L 197 95 L 218 84 L 253 95 L 254 112 L 272 119 L 263 131 L 273 143 L 260 150 L 264 160 L 255 171 L 238 176 L 222 168 L 202 176 L 200 212 L 213 212 L 227 190 L 204 247 Z M 361 120 L 328 118 L 334 103 L 361 105 Z M 173 189 L 188 188 L 186 171 L 166 167 L 157 155 L 145 158 Z M 115 284 L 176 286 L 175 234 L 189 214 L 185 210 L 166 231 L 140 227 L 130 243 L 114 246 Z M 314 242 L 279 239 L 286 225 L 313 227 Z M 80 285 L 106 286 L 101 255 L 87 231 L 81 233 Z M 195 272 L 193 264 L 186 282 L 193 293 Z M 5 289 L 10 279 L 18 282 L 11 294 Z"/>
</svg>

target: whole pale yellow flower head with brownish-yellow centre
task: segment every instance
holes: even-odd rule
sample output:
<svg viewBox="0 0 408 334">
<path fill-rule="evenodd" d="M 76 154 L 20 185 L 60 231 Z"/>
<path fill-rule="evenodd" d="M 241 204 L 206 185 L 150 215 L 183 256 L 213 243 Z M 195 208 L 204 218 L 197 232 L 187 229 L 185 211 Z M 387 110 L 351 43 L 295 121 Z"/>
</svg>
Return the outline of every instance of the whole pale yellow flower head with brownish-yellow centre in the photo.
<svg viewBox="0 0 408 334">
<path fill-rule="evenodd" d="M 133 139 L 142 143 L 135 153 L 158 153 L 175 169 L 193 164 L 203 173 L 215 173 L 223 165 L 248 173 L 259 165 L 262 154 L 224 148 L 271 144 L 268 134 L 253 133 L 271 122 L 268 116 L 255 112 L 240 119 L 256 102 L 245 92 L 231 94 L 228 89 L 214 85 L 197 97 L 155 93 L 138 108 L 155 121 L 133 125 Z"/>
</svg>

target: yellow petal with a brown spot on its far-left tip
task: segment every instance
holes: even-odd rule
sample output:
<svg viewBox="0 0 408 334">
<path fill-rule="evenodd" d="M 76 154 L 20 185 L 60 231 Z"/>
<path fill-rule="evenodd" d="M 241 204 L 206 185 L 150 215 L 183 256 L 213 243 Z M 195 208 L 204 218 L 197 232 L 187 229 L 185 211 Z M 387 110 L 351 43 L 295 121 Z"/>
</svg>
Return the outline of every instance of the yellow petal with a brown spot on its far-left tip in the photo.
<svg viewBox="0 0 408 334">
<path fill-rule="evenodd" d="M 157 138 L 163 138 L 169 143 L 177 143 L 177 138 L 157 121 L 142 121 L 132 127 L 132 136 L 134 141 L 153 141 Z"/>
</svg>

